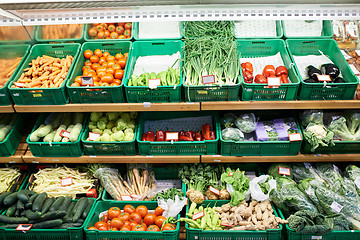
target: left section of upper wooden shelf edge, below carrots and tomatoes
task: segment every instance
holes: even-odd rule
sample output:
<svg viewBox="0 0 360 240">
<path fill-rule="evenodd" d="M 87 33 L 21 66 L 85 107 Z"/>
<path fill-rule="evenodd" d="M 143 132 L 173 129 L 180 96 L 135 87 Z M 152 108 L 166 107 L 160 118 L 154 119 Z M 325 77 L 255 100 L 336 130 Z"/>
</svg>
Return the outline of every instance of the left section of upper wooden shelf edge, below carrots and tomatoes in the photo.
<svg viewBox="0 0 360 240">
<path fill-rule="evenodd" d="M 200 103 L 94 103 L 66 105 L 14 105 L 16 112 L 137 112 L 200 111 Z"/>
</svg>

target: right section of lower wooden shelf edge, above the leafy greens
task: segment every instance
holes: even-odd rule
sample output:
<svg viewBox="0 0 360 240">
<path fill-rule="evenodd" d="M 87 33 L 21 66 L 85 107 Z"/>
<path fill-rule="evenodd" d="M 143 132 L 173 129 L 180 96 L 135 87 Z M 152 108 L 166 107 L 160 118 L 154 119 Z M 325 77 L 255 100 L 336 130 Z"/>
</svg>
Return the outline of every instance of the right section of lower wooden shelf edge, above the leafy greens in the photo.
<svg viewBox="0 0 360 240">
<path fill-rule="evenodd" d="M 299 154 L 297 156 L 220 156 L 220 155 L 203 155 L 202 163 L 260 163 L 260 162 L 358 162 L 359 154 Z"/>
</svg>

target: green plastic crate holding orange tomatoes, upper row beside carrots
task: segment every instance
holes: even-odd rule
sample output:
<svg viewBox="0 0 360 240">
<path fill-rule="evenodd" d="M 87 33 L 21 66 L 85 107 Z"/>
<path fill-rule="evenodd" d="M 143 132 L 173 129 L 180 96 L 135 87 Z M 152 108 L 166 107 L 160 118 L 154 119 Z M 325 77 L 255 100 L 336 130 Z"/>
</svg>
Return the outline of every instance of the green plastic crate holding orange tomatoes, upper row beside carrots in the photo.
<svg viewBox="0 0 360 240">
<path fill-rule="evenodd" d="M 93 87 L 70 87 L 77 76 L 82 76 L 82 67 L 84 66 L 85 58 L 84 52 L 88 49 L 94 51 L 100 49 L 103 52 L 108 51 L 115 56 L 117 53 L 129 52 L 128 59 L 131 57 L 131 42 L 129 41 L 109 41 L 109 42 L 86 42 L 81 47 L 81 52 L 78 60 L 75 63 L 74 71 L 72 72 L 69 81 L 67 82 L 67 91 L 72 103 L 122 103 L 124 98 L 124 81 L 120 86 L 93 86 Z M 129 67 L 126 62 L 124 69 L 124 77 Z M 123 79 L 124 79 L 123 77 Z"/>
</svg>

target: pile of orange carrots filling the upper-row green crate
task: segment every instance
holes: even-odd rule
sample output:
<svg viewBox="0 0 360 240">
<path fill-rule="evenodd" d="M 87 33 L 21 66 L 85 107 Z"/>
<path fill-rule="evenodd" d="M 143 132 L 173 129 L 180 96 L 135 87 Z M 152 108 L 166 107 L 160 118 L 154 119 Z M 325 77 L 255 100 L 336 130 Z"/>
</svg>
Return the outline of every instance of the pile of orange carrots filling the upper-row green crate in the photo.
<svg viewBox="0 0 360 240">
<path fill-rule="evenodd" d="M 54 58 L 47 55 L 31 60 L 12 88 L 57 88 L 62 86 L 69 72 L 73 56 Z"/>
</svg>

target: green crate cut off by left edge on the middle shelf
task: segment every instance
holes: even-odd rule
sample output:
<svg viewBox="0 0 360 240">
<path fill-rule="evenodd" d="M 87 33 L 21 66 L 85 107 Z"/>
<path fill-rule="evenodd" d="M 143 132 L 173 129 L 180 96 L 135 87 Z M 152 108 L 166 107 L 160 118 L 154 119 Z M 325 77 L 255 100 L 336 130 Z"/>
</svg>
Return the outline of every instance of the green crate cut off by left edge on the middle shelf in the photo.
<svg viewBox="0 0 360 240">
<path fill-rule="evenodd" d="M 10 157 L 15 153 L 25 132 L 24 125 L 25 117 L 18 114 L 11 131 L 4 141 L 0 142 L 0 157 Z"/>
</svg>

